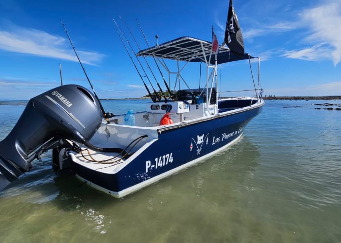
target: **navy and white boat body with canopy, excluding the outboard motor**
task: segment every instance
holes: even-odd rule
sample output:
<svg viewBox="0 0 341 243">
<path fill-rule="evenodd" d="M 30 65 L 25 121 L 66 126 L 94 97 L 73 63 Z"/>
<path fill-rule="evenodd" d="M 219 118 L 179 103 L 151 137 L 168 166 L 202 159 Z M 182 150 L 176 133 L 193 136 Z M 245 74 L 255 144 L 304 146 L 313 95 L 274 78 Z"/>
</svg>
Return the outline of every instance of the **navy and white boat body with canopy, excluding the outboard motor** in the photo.
<svg viewBox="0 0 341 243">
<path fill-rule="evenodd" d="M 181 71 L 189 62 L 202 62 L 212 71 L 204 88 L 178 90 L 174 100 L 151 102 L 145 112 L 134 113 L 133 126 L 125 125 L 124 114 L 115 116 L 110 124 L 102 123 L 91 139 L 92 144 L 125 148 L 132 141 L 139 142 L 130 157 L 112 164 L 105 161 L 110 163 L 113 157 L 115 160 L 119 152 L 96 153 L 81 146 L 87 151 L 70 153 L 76 176 L 100 191 L 122 197 L 192 166 L 240 139 L 247 123 L 262 110 L 262 90 L 256 89 L 253 97 L 219 99 L 217 66 L 252 57 L 244 54 L 238 58 L 227 47 L 220 47 L 217 60 L 212 58 L 208 62 L 211 46 L 208 41 L 180 37 L 138 52 L 139 56 L 153 54 L 169 74 L 176 76 L 174 86 L 182 81 L 187 87 Z M 164 59 L 185 64 L 170 71 Z M 173 123 L 160 125 L 167 109 Z"/>
</svg>

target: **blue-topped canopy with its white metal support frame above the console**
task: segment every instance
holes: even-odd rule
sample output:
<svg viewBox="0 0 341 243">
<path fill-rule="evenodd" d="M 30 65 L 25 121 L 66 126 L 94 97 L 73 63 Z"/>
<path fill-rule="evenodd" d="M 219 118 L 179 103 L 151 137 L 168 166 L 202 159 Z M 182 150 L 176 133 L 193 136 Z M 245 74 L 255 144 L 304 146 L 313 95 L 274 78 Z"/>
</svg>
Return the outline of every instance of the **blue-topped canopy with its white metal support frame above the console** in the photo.
<svg viewBox="0 0 341 243">
<path fill-rule="evenodd" d="M 153 56 L 158 60 L 158 62 L 166 69 L 169 75 L 169 86 L 170 86 L 170 74 L 175 74 L 175 84 L 174 90 L 179 82 L 179 90 L 180 88 L 180 80 L 182 80 L 185 85 L 191 89 L 181 76 L 181 71 L 187 66 L 189 62 L 203 62 L 206 64 L 206 111 L 207 115 L 217 114 L 218 113 L 218 78 L 217 78 L 217 65 L 223 64 L 227 62 L 239 61 L 239 60 L 250 60 L 254 58 L 250 56 L 248 53 L 244 53 L 240 57 L 236 56 L 226 46 L 219 46 L 219 52 L 216 54 L 212 52 L 212 43 L 209 41 L 201 40 L 198 38 L 193 38 L 189 36 L 180 37 L 174 40 L 170 40 L 168 42 L 162 43 L 160 45 L 153 46 L 151 48 L 147 48 L 141 50 L 137 53 L 137 56 Z M 177 61 L 177 71 L 170 71 L 167 64 L 165 63 L 165 59 L 176 60 Z M 184 61 L 186 64 L 180 69 L 179 61 Z M 210 71 L 210 69 L 212 69 Z M 212 89 L 215 85 L 216 89 L 216 104 L 210 104 Z M 209 88 L 210 87 L 210 88 Z M 202 92 L 203 93 L 203 92 Z M 202 94 L 201 93 L 201 94 Z M 200 95 L 201 95 L 200 94 Z"/>
</svg>

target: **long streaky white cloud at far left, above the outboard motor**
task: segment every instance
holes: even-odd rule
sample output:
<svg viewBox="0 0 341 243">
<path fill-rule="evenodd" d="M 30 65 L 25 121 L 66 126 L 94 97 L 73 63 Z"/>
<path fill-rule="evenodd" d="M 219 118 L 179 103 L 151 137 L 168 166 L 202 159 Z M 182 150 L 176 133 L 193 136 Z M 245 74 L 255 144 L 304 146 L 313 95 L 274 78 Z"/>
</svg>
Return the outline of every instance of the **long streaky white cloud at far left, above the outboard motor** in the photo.
<svg viewBox="0 0 341 243">
<path fill-rule="evenodd" d="M 8 52 L 32 54 L 77 62 L 66 38 L 37 29 L 26 29 L 13 24 L 11 30 L 0 29 L 0 49 Z M 98 52 L 77 51 L 83 63 L 95 65 L 105 56 Z"/>
</svg>

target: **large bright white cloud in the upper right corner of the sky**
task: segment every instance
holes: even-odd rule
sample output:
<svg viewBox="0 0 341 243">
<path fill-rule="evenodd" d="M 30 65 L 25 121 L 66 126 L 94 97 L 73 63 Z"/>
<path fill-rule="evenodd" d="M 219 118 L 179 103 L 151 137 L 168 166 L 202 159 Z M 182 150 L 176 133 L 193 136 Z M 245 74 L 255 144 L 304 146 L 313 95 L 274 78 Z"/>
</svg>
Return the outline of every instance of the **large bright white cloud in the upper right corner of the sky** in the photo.
<svg viewBox="0 0 341 243">
<path fill-rule="evenodd" d="M 307 9 L 300 16 L 310 31 L 304 41 L 314 46 L 287 51 L 283 56 L 310 61 L 331 59 L 336 66 L 341 61 L 341 3 Z"/>
</svg>

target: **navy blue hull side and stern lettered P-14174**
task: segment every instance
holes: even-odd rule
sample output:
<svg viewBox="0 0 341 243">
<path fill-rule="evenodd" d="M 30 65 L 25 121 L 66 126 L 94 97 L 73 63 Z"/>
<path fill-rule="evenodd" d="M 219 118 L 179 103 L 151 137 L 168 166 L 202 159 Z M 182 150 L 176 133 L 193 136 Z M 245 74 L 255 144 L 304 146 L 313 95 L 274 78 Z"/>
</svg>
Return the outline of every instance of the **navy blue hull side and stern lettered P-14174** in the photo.
<svg viewBox="0 0 341 243">
<path fill-rule="evenodd" d="M 159 129 L 158 139 L 115 174 L 91 170 L 78 163 L 74 163 L 74 169 L 85 181 L 118 195 L 120 191 L 146 184 L 144 182 L 176 168 L 186 168 L 191 161 L 199 161 L 228 146 L 241 137 L 247 123 L 261 111 L 262 105 L 184 126 Z"/>
</svg>

